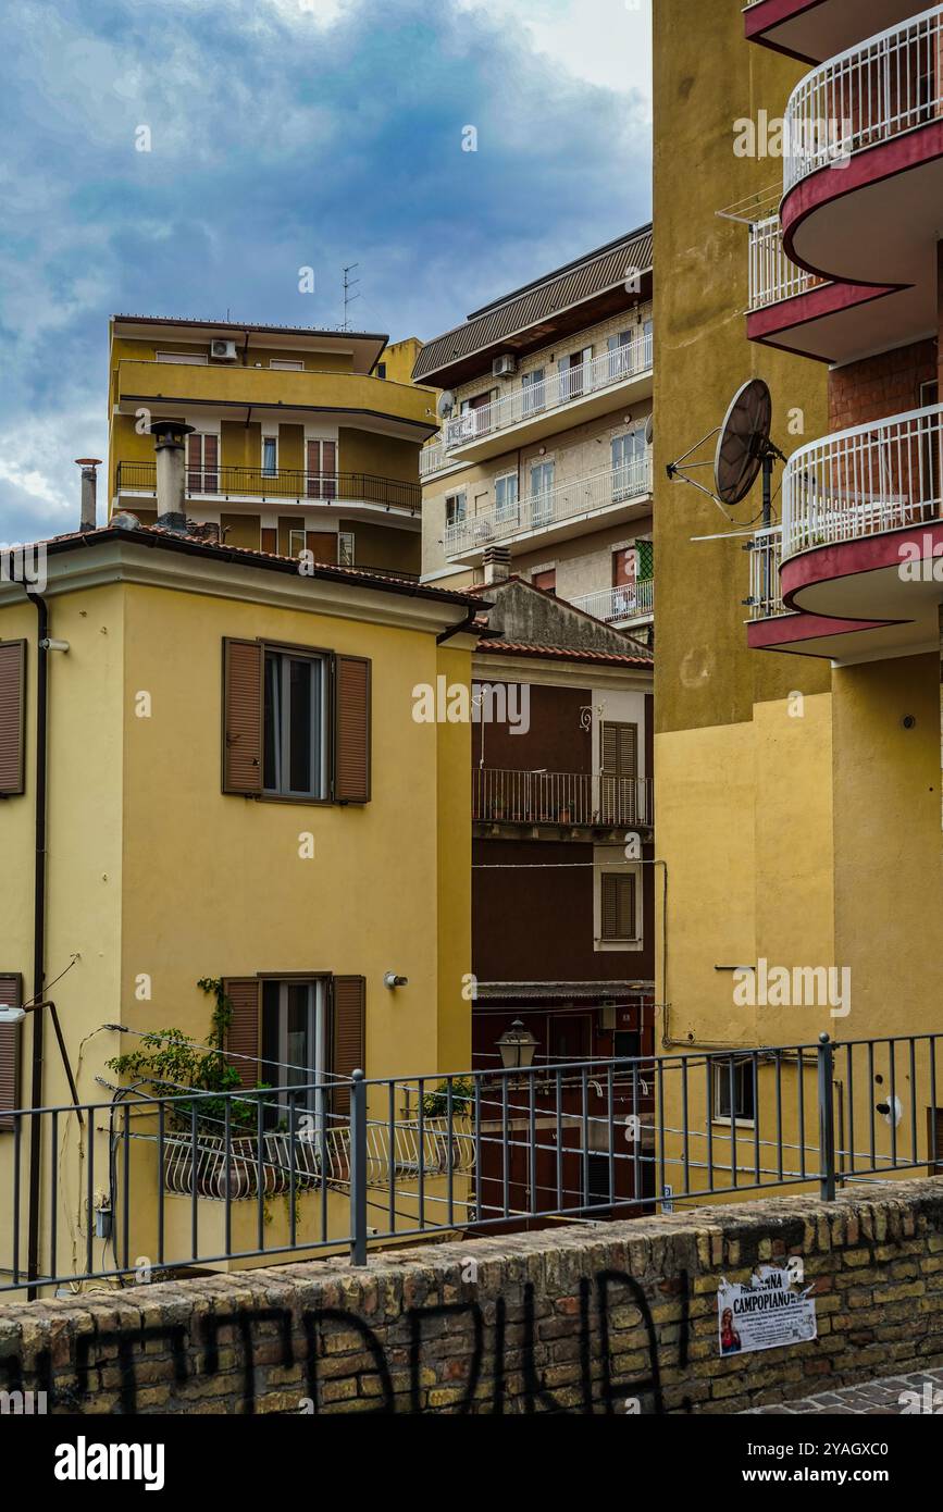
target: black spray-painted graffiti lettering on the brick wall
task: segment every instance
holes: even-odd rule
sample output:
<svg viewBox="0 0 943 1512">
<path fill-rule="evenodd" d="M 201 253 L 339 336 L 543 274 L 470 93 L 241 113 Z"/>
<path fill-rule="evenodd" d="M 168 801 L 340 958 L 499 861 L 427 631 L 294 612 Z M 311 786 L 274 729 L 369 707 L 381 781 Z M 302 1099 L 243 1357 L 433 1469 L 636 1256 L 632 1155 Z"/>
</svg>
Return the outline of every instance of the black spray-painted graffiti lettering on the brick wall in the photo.
<svg viewBox="0 0 943 1512">
<path fill-rule="evenodd" d="M 672 1362 L 683 1370 L 688 1364 L 689 1332 L 686 1272 L 682 1272 L 677 1281 L 665 1284 L 663 1290 L 674 1296 L 679 1306 L 679 1340 L 677 1344 L 672 1344 L 671 1355 L 674 1356 Z M 402 1315 L 402 1321 L 405 1323 L 405 1350 L 400 1344 L 394 1349 L 388 1338 L 384 1344 L 376 1331 L 364 1318 L 345 1308 L 302 1309 L 299 1321 L 305 1347 L 299 1374 L 299 1379 L 304 1382 L 304 1387 L 299 1385 L 299 1411 L 302 1391 L 311 1403 L 313 1411 L 319 1411 L 320 1347 L 325 1338 L 329 1337 L 329 1331 L 335 1329 L 358 1335 L 363 1341 L 360 1353 L 369 1356 L 372 1361 L 372 1368 L 364 1367 L 360 1371 L 360 1374 L 372 1373 L 376 1376 L 376 1406 L 370 1411 L 376 1414 L 423 1412 L 423 1365 L 428 1364 L 423 1350 L 434 1338 L 435 1323 L 444 1323 L 447 1328 L 465 1318 L 468 1328 L 462 1329 L 461 1334 L 464 1337 L 470 1335 L 472 1353 L 467 1373 L 461 1382 L 462 1396 L 452 1405 L 452 1411 L 456 1414 L 467 1414 L 473 1409 L 497 1415 L 506 1412 L 509 1405 L 508 1382 L 511 1376 L 517 1377 L 518 1385 L 523 1380 L 523 1391 L 518 1390 L 515 1393 L 515 1400 L 529 1414 L 615 1414 L 617 1411 L 624 1411 L 626 1400 L 629 1399 L 636 1399 L 644 1405 L 641 1406 L 642 1411 L 663 1414 L 666 1411 L 660 1359 L 663 1346 L 659 1346 L 657 1329 L 644 1287 L 633 1276 L 626 1275 L 626 1272 L 603 1270 L 594 1281 L 588 1278 L 580 1279 L 577 1300 L 579 1312 L 568 1337 L 577 1341 L 579 1406 L 561 1405 L 558 1396 L 546 1383 L 546 1362 L 543 1368 L 538 1364 L 536 1291 L 533 1284 L 527 1282 L 523 1287 L 521 1317 L 515 1320 L 515 1323 L 520 1323 L 520 1347 L 517 1344 L 509 1347 L 511 1325 L 508 1305 L 503 1297 L 497 1297 L 490 1303 L 490 1318 L 485 1317 L 485 1308 L 476 1300 L 410 1308 Z M 626 1308 L 626 1305 L 635 1308 L 639 1314 L 645 1340 L 642 1353 L 647 1358 L 648 1368 L 641 1376 L 633 1374 L 630 1379 L 620 1379 L 612 1368 L 612 1314 L 615 1308 Z M 24 1365 L 23 1358 L 17 1353 L 0 1356 L 0 1390 L 45 1391 L 51 1411 L 88 1411 L 91 1399 L 98 1391 L 98 1362 L 92 1356 L 101 1344 L 106 1352 L 116 1350 L 119 1411 L 134 1414 L 139 1408 L 139 1365 L 145 1358 L 148 1361 L 154 1358 L 153 1355 L 145 1356 L 147 1344 L 165 1343 L 169 1346 L 174 1382 L 180 1387 L 195 1376 L 215 1376 L 219 1371 L 219 1335 L 224 1329 L 231 1328 L 239 1340 L 243 1371 L 242 1408 L 245 1412 L 254 1412 L 258 1393 L 258 1367 L 255 1359 L 258 1329 L 264 1325 L 275 1328 L 280 1340 L 278 1364 L 284 1370 L 292 1370 L 298 1362 L 295 1355 L 296 1323 L 298 1314 L 292 1308 L 245 1308 L 233 1312 L 209 1312 L 195 1318 L 192 1326 L 186 1323 L 166 1323 L 119 1331 L 109 1329 L 101 1338 L 97 1338 L 94 1334 L 79 1334 L 74 1344 L 74 1385 L 66 1385 L 54 1379 L 50 1352 L 41 1350 L 35 1355 L 29 1367 Z M 399 1332 L 397 1320 L 390 1323 L 390 1331 Z M 627 1346 L 623 1344 L 621 1347 L 626 1349 Z M 636 1346 L 633 1344 L 632 1347 L 638 1353 Z M 396 1358 L 405 1353 L 408 1393 L 397 1394 L 394 1390 L 390 1353 L 394 1353 Z M 594 1362 L 600 1364 L 600 1370 L 594 1371 Z M 479 1385 L 487 1367 L 490 1367 L 488 1391 L 482 1396 Z M 287 1390 L 287 1387 L 283 1390 Z M 408 1399 L 408 1406 L 405 1399 Z M 181 1400 L 180 1409 L 184 1409 L 184 1406 L 186 1403 Z M 674 1411 L 689 1412 L 691 1403 L 685 1399 Z"/>
</svg>

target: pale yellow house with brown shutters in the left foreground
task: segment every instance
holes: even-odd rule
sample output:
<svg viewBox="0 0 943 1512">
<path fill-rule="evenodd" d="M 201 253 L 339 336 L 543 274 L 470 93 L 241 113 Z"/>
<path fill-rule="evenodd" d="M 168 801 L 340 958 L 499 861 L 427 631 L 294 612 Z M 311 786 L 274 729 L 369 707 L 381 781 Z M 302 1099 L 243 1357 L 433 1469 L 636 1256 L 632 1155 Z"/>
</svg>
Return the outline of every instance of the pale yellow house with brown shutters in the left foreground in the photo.
<svg viewBox="0 0 943 1512">
<path fill-rule="evenodd" d="M 174 1028 L 207 1045 L 216 999 L 198 986 L 206 978 L 230 998 L 225 1045 L 246 1087 L 468 1066 L 470 726 L 417 723 L 413 709 L 416 689 L 440 676 L 468 688 L 475 605 L 121 525 L 53 540 L 36 565 L 32 602 L 0 582 L 0 1004 L 53 999 L 80 1101 L 109 1104 L 119 1078 L 107 1063 L 139 1051 L 144 1033 Z M 0 1024 L 0 1188 L 17 1190 L 18 1158 L 21 1232 L 17 1256 L 6 1202 L 8 1284 L 17 1266 L 29 1273 L 30 1120 L 17 1131 L 3 1113 L 73 1101 L 50 1010 L 11 1019 Z M 162 1090 L 172 1089 L 171 1075 Z M 136 1107 L 125 1172 L 113 1145 L 109 1160 L 130 1117 L 122 1093 L 113 1114 L 88 1114 L 82 1128 L 74 1114 L 47 1116 L 32 1258 L 44 1275 L 171 1264 L 190 1253 L 193 1214 L 207 1259 L 255 1249 L 257 1235 L 269 1252 L 290 1246 L 292 1222 L 299 1243 L 349 1234 L 349 1149 L 332 1132 L 349 1093 L 326 1093 L 326 1108 L 320 1096 L 310 1107 L 302 1093 L 295 1113 L 334 1120 L 332 1179 L 322 1169 L 307 1190 L 311 1172 L 299 1169 L 292 1216 L 277 1155 L 266 1146 L 263 1184 L 243 1146 L 230 1243 L 218 1142 L 213 1166 L 203 1123 L 195 1176 L 165 1110 L 165 1132 L 177 1134 L 160 1234 L 154 1117 Z M 385 1119 L 387 1089 L 370 1089 Z M 408 1104 L 397 1089 L 397 1120 Z M 408 1182 L 403 1196 L 397 1157 L 385 1157 L 408 1216 Z M 382 1158 L 372 1145 L 370 1160 Z M 107 1208 L 110 1240 L 95 1237 Z M 112 1220 L 98 1222 L 104 1232 Z"/>
</svg>

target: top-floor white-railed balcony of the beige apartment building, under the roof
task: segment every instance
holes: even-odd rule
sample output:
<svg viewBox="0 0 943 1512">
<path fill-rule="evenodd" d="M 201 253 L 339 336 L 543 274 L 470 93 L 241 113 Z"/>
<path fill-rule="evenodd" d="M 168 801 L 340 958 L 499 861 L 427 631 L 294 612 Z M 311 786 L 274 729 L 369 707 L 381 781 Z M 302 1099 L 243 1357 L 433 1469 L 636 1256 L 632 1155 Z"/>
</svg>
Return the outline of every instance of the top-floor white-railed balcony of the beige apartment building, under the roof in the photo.
<svg viewBox="0 0 943 1512">
<path fill-rule="evenodd" d="M 541 383 L 518 383 L 500 399 L 453 416 L 446 423 L 446 449 L 464 463 L 484 461 L 650 392 L 651 334 L 644 334 Z"/>
</svg>

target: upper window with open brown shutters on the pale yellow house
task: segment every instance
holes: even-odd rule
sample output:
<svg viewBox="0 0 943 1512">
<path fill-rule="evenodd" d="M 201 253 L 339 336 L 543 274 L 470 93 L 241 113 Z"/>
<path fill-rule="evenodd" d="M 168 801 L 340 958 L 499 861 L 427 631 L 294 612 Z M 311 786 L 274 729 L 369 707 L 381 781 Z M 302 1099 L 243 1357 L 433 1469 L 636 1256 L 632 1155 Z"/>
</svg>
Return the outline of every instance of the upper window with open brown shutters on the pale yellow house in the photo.
<svg viewBox="0 0 943 1512">
<path fill-rule="evenodd" d="M 225 640 L 222 667 L 224 792 L 370 801 L 369 658 Z"/>
</svg>

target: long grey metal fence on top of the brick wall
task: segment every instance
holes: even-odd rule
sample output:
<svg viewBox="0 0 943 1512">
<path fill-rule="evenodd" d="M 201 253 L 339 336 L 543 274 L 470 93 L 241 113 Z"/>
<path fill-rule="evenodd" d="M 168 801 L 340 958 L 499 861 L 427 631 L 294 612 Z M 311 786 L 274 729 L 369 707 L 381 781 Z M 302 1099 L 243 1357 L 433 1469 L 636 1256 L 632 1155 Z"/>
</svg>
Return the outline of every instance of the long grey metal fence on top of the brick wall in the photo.
<svg viewBox="0 0 943 1512">
<path fill-rule="evenodd" d="M 9 1114 L 0 1291 L 935 1173 L 938 1036 L 540 1060 Z M 26 1259 L 29 1146 L 44 1154 Z"/>
</svg>

